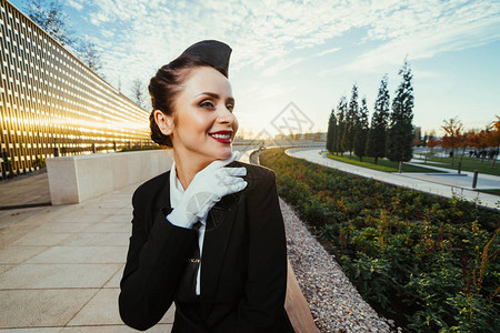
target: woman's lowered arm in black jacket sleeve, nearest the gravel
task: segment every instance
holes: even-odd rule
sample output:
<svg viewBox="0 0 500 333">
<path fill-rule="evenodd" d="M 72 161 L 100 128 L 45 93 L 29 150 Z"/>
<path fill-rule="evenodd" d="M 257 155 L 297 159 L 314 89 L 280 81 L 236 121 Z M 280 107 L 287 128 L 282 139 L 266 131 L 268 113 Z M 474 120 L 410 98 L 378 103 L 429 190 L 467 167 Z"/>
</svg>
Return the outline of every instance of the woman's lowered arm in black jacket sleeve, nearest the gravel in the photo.
<svg viewBox="0 0 500 333">
<path fill-rule="evenodd" d="M 276 174 L 253 189 L 248 202 L 249 263 L 238 332 L 287 332 L 287 240 Z"/>
</svg>

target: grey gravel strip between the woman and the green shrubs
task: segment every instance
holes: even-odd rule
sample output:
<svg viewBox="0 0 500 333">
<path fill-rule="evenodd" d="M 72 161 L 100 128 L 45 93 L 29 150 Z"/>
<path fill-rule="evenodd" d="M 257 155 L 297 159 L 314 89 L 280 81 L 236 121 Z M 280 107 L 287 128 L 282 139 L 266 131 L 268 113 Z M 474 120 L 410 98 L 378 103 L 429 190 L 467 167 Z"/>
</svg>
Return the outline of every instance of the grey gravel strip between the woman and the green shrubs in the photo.
<svg viewBox="0 0 500 333">
<path fill-rule="evenodd" d="M 280 198 L 288 258 L 321 332 L 391 332 L 386 319 L 363 301 L 340 265 Z"/>
</svg>

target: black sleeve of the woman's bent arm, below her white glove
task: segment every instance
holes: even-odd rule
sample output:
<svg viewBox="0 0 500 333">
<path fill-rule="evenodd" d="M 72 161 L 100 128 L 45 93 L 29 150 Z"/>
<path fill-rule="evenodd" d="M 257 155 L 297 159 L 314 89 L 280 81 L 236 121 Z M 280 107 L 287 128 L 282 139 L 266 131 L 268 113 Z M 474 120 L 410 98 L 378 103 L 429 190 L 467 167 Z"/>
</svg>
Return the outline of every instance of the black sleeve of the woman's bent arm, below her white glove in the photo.
<svg viewBox="0 0 500 333">
<path fill-rule="evenodd" d="M 171 209 L 154 212 L 148 232 L 148 214 L 141 211 L 144 205 L 140 203 L 148 195 L 142 190 L 139 188 L 132 198 L 132 235 L 119 296 L 121 319 L 141 331 L 157 324 L 170 307 L 187 255 L 197 242 L 193 230 L 167 221 Z"/>
</svg>

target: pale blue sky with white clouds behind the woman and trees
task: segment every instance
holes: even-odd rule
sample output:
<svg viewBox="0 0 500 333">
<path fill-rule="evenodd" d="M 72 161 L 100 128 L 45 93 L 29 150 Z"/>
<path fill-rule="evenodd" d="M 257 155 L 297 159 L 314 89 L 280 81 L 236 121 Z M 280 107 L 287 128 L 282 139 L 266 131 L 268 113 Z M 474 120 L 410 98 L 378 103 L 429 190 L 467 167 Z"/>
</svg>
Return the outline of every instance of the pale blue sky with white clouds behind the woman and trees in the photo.
<svg viewBox="0 0 500 333">
<path fill-rule="evenodd" d="M 307 119 L 302 132 L 324 132 L 353 84 L 371 119 L 382 77 L 392 100 L 404 59 L 422 133 L 441 134 L 451 118 L 483 129 L 500 115 L 498 0 L 60 2 L 73 33 L 101 51 L 100 72 L 124 94 L 194 42 L 228 43 L 234 114 L 247 137 L 280 132 L 273 120 L 291 113 Z"/>
</svg>

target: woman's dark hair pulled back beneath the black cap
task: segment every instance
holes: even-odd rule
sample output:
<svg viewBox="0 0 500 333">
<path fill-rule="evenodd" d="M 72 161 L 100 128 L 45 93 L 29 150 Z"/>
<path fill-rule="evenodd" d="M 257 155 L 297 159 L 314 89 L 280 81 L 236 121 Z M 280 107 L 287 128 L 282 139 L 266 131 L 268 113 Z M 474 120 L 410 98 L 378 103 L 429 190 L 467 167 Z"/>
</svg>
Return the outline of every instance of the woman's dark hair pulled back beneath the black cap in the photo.
<svg viewBox="0 0 500 333">
<path fill-rule="evenodd" d="M 167 115 L 173 114 L 173 105 L 177 94 L 181 91 L 181 84 L 190 73 L 190 70 L 199 67 L 211 67 L 222 73 L 223 69 L 214 68 L 208 62 L 194 57 L 179 57 L 170 63 L 160 68 L 157 74 L 149 82 L 149 94 L 151 97 L 152 111 L 149 115 L 149 127 L 151 129 L 151 140 L 160 145 L 172 147 L 169 135 L 164 135 L 154 121 L 154 111 L 160 110 Z"/>
</svg>

